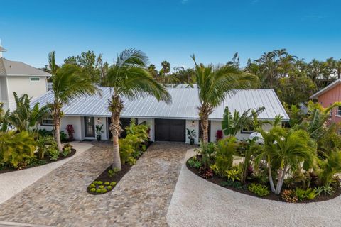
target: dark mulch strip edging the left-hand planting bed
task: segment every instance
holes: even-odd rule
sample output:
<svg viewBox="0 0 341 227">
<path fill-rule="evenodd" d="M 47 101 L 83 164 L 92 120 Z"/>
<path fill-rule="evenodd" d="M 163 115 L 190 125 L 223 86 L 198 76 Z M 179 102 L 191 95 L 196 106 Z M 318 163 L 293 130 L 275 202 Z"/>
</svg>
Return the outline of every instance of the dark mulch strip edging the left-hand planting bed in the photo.
<svg viewBox="0 0 341 227">
<path fill-rule="evenodd" d="M 52 163 L 52 162 L 58 162 L 58 161 L 63 160 L 65 158 L 72 157 L 73 155 L 75 155 L 75 153 L 76 153 L 76 150 L 71 148 L 71 152 L 68 155 L 64 156 L 64 155 L 62 155 L 62 153 L 60 153 L 60 155 L 58 156 L 57 160 L 51 160 L 50 157 L 48 157 L 48 156 L 45 156 L 43 159 L 39 159 L 38 153 L 35 153 L 34 156 L 36 158 L 33 158 L 30 161 L 29 164 L 22 165 L 22 166 L 17 167 L 17 168 L 8 167 L 8 166 L 1 167 L 0 168 L 0 174 L 1 173 L 5 173 L 5 172 L 18 171 L 18 170 L 26 170 L 26 169 L 29 169 L 29 168 L 32 168 L 32 167 L 37 167 L 37 166 L 40 166 L 40 165 L 46 165 L 46 164 L 49 164 L 49 163 Z"/>
</svg>

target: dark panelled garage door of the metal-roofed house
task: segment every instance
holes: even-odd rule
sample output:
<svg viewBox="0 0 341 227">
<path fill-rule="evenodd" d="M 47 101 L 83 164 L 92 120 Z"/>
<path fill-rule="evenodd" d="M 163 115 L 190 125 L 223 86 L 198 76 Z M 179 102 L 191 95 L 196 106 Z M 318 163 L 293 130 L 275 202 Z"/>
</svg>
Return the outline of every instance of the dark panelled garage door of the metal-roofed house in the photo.
<svg viewBox="0 0 341 227">
<path fill-rule="evenodd" d="M 185 120 L 155 119 L 155 140 L 185 142 Z"/>
</svg>

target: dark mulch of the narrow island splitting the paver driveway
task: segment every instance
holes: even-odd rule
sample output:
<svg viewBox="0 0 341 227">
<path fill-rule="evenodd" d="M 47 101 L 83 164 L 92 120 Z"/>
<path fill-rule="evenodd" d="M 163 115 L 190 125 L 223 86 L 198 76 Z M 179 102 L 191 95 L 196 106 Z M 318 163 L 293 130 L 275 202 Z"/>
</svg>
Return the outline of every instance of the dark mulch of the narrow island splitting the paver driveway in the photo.
<svg viewBox="0 0 341 227">
<path fill-rule="evenodd" d="M 148 141 L 148 143 L 146 143 L 146 148 L 148 149 L 148 147 L 151 145 L 151 143 L 153 143 L 153 142 L 151 142 L 151 141 Z M 146 150 L 147 150 L 146 149 Z M 144 153 L 146 153 L 146 151 L 144 152 Z M 144 154 L 142 154 L 142 155 L 144 155 Z M 141 156 L 142 156 L 141 155 Z M 140 156 L 140 157 L 141 157 Z M 140 157 L 138 157 L 137 159 L 136 159 L 136 161 L 137 160 L 139 160 L 139 158 Z M 93 182 L 109 182 L 109 183 L 111 183 L 111 182 L 116 182 L 116 184 L 122 179 L 122 177 L 124 177 L 124 175 L 126 175 L 126 173 L 127 172 L 129 172 L 129 170 L 131 169 L 131 167 L 132 167 L 132 165 L 129 165 L 129 164 L 123 164 L 122 166 L 121 166 L 121 171 L 119 171 L 119 172 L 116 172 L 114 175 L 112 175 L 112 177 L 110 177 L 109 176 L 109 170 L 112 170 L 112 165 L 109 165 L 109 167 L 107 167 L 107 169 L 105 169 L 102 173 L 101 173 L 101 175 L 99 175 L 96 179 L 94 179 L 94 181 Z M 93 184 L 93 182 L 91 183 L 91 184 Z M 90 185 L 91 185 L 90 184 Z M 114 185 L 114 187 L 116 186 L 116 184 Z M 104 184 L 103 184 L 104 185 Z M 112 187 L 112 189 L 114 189 L 114 187 Z M 89 193 L 89 194 L 93 194 L 93 195 L 99 195 L 99 194 L 105 194 L 105 193 L 107 193 L 107 192 L 110 192 L 110 191 L 112 191 L 112 189 L 107 189 L 107 192 L 102 192 L 102 193 L 97 193 L 97 192 L 91 192 L 90 191 L 90 187 L 87 187 L 87 192 Z"/>
</svg>

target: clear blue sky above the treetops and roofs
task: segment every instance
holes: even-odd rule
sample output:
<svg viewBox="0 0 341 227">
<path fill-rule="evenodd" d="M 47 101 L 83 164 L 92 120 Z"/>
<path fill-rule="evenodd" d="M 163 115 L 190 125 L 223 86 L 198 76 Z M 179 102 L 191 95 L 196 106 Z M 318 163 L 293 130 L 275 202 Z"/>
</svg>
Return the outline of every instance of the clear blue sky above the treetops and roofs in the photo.
<svg viewBox="0 0 341 227">
<path fill-rule="evenodd" d="M 144 0 L 3 1 L 0 38 L 4 57 L 35 67 L 55 50 L 58 63 L 94 50 L 112 63 L 137 48 L 160 67 L 224 63 L 287 48 L 305 60 L 341 58 L 341 1 Z"/>
</svg>

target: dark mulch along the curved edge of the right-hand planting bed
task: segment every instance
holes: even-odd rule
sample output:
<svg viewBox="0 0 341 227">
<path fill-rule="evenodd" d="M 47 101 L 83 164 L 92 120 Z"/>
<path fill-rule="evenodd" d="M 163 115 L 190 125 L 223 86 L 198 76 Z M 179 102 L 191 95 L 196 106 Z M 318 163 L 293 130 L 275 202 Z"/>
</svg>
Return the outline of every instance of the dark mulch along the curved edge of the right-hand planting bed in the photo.
<svg viewBox="0 0 341 227">
<path fill-rule="evenodd" d="M 189 160 L 189 159 L 188 159 L 188 160 Z M 190 170 L 191 172 L 193 172 L 193 173 L 194 173 L 195 175 L 197 175 L 198 177 L 201 177 L 201 176 L 199 175 L 199 169 L 197 169 L 197 168 L 195 168 L 195 167 L 190 167 L 190 165 L 188 165 L 188 160 L 187 160 L 187 162 L 186 162 L 186 166 L 188 167 L 188 170 Z M 201 178 L 202 178 L 202 177 L 201 177 Z M 202 178 L 202 179 L 204 179 L 204 178 Z M 230 190 L 232 190 L 232 191 L 234 191 L 234 192 L 239 192 L 239 193 L 242 193 L 242 194 L 247 194 L 247 195 L 249 195 L 249 196 L 254 196 L 254 197 L 257 197 L 257 198 L 260 198 L 260 199 L 269 199 L 269 200 L 281 201 L 281 202 L 287 203 L 286 201 L 283 201 L 283 200 L 281 199 L 281 196 L 278 196 L 278 195 L 276 195 L 276 194 L 274 194 L 274 193 L 272 193 L 272 192 L 271 192 L 268 196 L 259 197 L 259 196 L 257 196 L 256 194 L 249 192 L 248 189 L 242 190 L 242 189 L 237 189 L 237 188 L 232 187 L 232 186 L 222 186 L 221 182 L 225 182 L 225 181 L 227 181 L 227 179 L 224 179 L 224 178 L 219 177 L 219 176 L 217 176 L 217 175 L 213 175 L 213 177 L 208 178 L 208 179 L 206 179 L 206 180 L 207 180 L 208 182 L 213 183 L 213 184 L 217 184 L 217 185 L 219 185 L 220 187 L 224 187 L 224 188 L 230 189 Z M 248 186 L 249 184 L 251 184 L 251 183 L 252 183 L 252 181 L 247 182 L 247 183 L 245 184 L 246 188 L 247 188 L 247 186 Z M 284 189 L 286 189 L 286 188 L 283 187 L 283 188 L 282 188 L 282 192 L 283 192 Z M 297 203 L 297 204 L 298 204 L 298 203 L 300 203 L 300 204 L 307 204 L 307 203 L 317 202 L 317 201 L 327 201 L 327 200 L 330 200 L 330 199 L 334 199 L 334 198 L 337 197 L 337 196 L 340 196 L 340 194 L 341 194 L 341 188 L 339 187 L 339 188 L 335 189 L 335 193 L 332 194 L 331 196 L 330 196 L 330 195 L 326 195 L 326 194 L 320 194 L 319 196 L 316 196 L 315 199 L 297 201 L 296 203 Z"/>
</svg>

